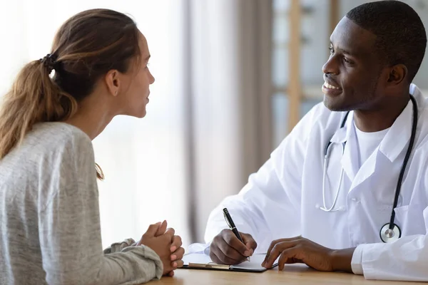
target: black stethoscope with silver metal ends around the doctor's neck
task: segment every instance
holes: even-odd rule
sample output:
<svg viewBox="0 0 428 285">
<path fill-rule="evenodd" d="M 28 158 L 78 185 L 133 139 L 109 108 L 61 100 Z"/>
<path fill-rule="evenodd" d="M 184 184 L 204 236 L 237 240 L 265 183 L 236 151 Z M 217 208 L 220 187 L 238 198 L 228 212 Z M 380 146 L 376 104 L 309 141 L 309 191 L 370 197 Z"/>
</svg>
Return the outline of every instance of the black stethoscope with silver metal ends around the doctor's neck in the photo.
<svg viewBox="0 0 428 285">
<path fill-rule="evenodd" d="M 413 149 L 414 138 L 416 137 L 417 103 L 416 103 L 416 100 L 414 100 L 414 97 L 412 95 L 410 95 L 410 100 L 412 100 L 412 104 L 413 104 L 412 135 L 410 135 L 409 146 L 407 147 L 407 152 L 406 152 L 406 155 L 404 156 L 402 168 L 399 172 L 397 187 L 395 188 L 394 204 L 392 205 L 391 218 L 389 219 L 389 223 L 384 224 L 384 226 L 380 229 L 380 232 L 379 232 L 379 236 L 380 236 L 380 239 L 382 239 L 382 242 L 394 242 L 395 240 L 401 237 L 401 229 L 394 222 L 395 220 L 394 209 L 397 207 L 399 191 L 401 190 L 402 180 L 404 177 L 404 171 L 406 170 L 407 162 L 409 162 L 410 153 L 412 152 L 412 149 Z M 342 123 L 340 124 L 340 128 L 343 128 L 345 126 L 347 116 L 349 115 L 349 113 L 350 112 L 348 111 L 345 114 L 345 118 L 343 118 Z M 325 205 L 325 177 L 327 176 L 327 165 L 328 165 L 328 159 L 330 154 L 329 147 L 331 144 L 332 144 L 332 140 L 330 139 L 330 141 L 327 142 L 327 145 L 325 147 L 324 171 L 322 175 L 322 202 L 324 204 L 324 207 L 320 207 L 320 209 L 322 209 L 325 212 L 335 212 L 339 210 L 334 208 L 337 202 L 337 197 L 339 196 L 340 185 L 342 184 L 342 177 L 343 177 L 343 167 L 342 167 L 342 171 L 340 172 L 339 185 L 337 186 L 337 190 L 336 190 L 335 199 L 333 199 L 332 207 L 327 208 Z M 345 152 L 345 145 L 346 145 L 346 142 L 342 142 L 342 153 Z"/>
</svg>

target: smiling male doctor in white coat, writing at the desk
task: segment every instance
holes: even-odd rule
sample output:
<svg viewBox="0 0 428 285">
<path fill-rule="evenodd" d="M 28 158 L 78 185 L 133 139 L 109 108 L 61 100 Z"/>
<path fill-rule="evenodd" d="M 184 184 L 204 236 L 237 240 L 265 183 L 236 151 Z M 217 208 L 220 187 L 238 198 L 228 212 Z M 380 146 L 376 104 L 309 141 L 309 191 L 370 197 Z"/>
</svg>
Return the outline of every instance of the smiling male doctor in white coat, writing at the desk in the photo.
<svg viewBox="0 0 428 285">
<path fill-rule="evenodd" d="M 411 84 L 426 43 L 421 19 L 402 2 L 347 13 L 322 67 L 324 103 L 210 214 L 213 261 L 236 264 L 257 251 L 267 252 L 267 268 L 279 257 L 280 269 L 301 262 L 428 281 L 428 105 Z"/>
</svg>

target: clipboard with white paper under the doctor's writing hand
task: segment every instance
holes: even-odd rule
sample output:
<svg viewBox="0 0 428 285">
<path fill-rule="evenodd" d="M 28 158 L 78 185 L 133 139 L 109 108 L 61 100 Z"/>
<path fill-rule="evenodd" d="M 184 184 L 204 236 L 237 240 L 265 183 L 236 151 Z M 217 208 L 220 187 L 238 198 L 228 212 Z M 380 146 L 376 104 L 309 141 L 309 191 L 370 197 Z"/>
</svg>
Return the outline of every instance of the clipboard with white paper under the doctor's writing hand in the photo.
<svg viewBox="0 0 428 285">
<path fill-rule="evenodd" d="M 261 264 L 265 260 L 266 254 L 253 254 L 250 261 L 236 265 L 216 264 L 210 257 L 203 253 L 198 254 L 185 254 L 183 257 L 182 269 L 202 269 L 202 270 L 226 270 L 226 271 L 240 271 L 240 272 L 264 272 L 268 270 Z M 277 260 L 274 262 L 273 267 L 277 266 Z"/>
</svg>

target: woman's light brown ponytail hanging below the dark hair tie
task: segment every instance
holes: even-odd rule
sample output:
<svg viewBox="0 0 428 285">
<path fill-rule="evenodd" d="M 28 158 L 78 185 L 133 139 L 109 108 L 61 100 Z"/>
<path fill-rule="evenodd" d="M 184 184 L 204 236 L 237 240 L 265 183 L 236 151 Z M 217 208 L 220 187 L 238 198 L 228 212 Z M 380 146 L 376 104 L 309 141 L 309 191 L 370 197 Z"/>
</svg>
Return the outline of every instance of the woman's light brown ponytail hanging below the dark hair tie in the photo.
<svg viewBox="0 0 428 285">
<path fill-rule="evenodd" d="M 0 160 L 21 144 L 36 123 L 67 120 L 76 113 L 76 99 L 50 77 L 55 64 L 52 55 L 26 64 L 4 95 L 0 108 Z M 99 165 L 96 176 L 104 178 Z"/>
</svg>

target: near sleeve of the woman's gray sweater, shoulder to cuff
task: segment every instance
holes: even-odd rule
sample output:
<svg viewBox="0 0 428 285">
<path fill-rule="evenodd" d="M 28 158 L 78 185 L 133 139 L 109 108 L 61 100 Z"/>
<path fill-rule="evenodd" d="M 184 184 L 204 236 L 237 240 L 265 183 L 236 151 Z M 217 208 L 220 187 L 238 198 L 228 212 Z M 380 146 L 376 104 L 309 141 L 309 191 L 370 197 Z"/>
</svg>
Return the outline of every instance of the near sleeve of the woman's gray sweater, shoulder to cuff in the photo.
<svg viewBox="0 0 428 285">
<path fill-rule="evenodd" d="M 152 249 L 124 247 L 104 254 L 92 143 L 84 135 L 64 142 L 45 172 L 46 204 L 39 239 L 48 284 L 141 284 L 160 279 L 163 264 Z M 49 173 L 49 175 L 48 175 Z"/>
</svg>

